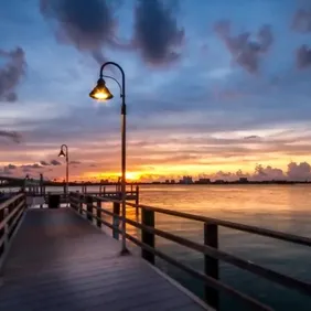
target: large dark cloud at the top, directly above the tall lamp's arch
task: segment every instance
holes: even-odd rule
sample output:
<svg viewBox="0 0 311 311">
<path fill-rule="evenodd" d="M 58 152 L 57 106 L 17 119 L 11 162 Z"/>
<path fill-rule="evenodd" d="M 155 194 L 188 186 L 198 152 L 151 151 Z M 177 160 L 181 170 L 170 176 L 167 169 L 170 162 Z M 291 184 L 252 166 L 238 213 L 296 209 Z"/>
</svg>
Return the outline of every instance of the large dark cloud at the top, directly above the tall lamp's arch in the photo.
<svg viewBox="0 0 311 311">
<path fill-rule="evenodd" d="M 103 47 L 116 45 L 116 22 L 111 4 L 106 0 L 41 0 L 41 13 L 56 21 L 55 36 L 58 42 L 90 53 L 103 63 Z"/>
</svg>

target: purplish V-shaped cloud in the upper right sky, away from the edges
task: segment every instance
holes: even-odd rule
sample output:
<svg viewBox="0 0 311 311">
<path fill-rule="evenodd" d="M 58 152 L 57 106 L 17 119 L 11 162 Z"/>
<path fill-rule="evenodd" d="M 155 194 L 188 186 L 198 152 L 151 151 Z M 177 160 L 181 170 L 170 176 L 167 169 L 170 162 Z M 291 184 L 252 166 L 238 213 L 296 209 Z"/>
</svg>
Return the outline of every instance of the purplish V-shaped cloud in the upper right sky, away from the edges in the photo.
<svg viewBox="0 0 311 311">
<path fill-rule="evenodd" d="M 258 30 L 256 41 L 250 37 L 249 32 L 232 35 L 230 22 L 227 20 L 216 22 L 214 30 L 226 44 L 233 60 L 253 74 L 259 71 L 262 56 L 274 43 L 270 25 L 262 25 Z"/>
</svg>

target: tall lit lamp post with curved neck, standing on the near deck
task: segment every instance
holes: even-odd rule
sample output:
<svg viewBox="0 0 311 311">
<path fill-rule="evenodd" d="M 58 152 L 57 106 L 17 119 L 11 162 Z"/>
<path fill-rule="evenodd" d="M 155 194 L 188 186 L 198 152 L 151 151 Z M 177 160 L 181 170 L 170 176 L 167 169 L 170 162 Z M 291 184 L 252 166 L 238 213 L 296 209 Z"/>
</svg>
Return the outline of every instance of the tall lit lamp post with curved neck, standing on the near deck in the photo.
<svg viewBox="0 0 311 311">
<path fill-rule="evenodd" d="M 104 76 L 103 72 L 104 68 L 107 65 L 114 65 L 116 66 L 120 72 L 122 76 L 121 85 L 119 82 L 110 76 Z M 108 87 L 106 86 L 106 82 L 104 77 L 110 78 L 115 81 L 119 88 L 120 88 L 120 97 L 122 99 L 121 101 L 121 211 L 122 211 L 122 250 L 121 255 L 128 254 L 127 245 L 126 245 L 126 75 L 122 69 L 122 67 L 114 62 L 106 62 L 101 65 L 99 71 L 99 79 L 97 81 L 97 85 L 94 87 L 94 89 L 89 93 L 89 96 L 97 100 L 108 100 L 114 98 L 114 95 L 110 93 Z"/>
</svg>

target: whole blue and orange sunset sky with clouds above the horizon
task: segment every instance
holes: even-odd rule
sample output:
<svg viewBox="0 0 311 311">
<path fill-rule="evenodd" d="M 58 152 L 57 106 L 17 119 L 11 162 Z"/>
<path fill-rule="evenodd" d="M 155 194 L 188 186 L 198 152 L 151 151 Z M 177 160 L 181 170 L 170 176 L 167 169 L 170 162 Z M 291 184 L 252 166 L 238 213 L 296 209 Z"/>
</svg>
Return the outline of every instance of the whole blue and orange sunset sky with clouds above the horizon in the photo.
<svg viewBox="0 0 311 311">
<path fill-rule="evenodd" d="M 311 179 L 311 1 L 10 0 L 0 4 L 0 175 Z M 108 75 L 120 79 L 112 67 Z"/>
</svg>

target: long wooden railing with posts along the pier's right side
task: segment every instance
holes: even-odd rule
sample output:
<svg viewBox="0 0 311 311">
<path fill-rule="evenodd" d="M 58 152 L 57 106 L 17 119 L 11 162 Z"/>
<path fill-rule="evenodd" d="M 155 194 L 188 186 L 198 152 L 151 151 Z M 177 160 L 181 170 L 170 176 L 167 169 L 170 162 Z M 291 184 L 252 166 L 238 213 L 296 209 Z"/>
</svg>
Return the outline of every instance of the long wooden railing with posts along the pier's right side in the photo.
<svg viewBox="0 0 311 311">
<path fill-rule="evenodd" d="M 105 225 L 112 229 L 112 235 L 115 237 L 118 236 L 118 234 L 122 233 L 119 228 L 119 223 L 124 221 L 124 218 L 120 216 L 120 200 L 114 200 L 103 196 L 84 196 L 81 194 L 71 193 L 69 202 L 71 206 L 78 213 L 85 214 L 87 219 L 92 222 L 95 219 L 97 226 L 101 227 L 101 225 Z M 96 202 L 96 205 L 94 205 L 94 202 Z M 103 208 L 101 202 L 114 203 L 114 211 L 110 212 L 107 208 Z M 86 208 L 84 208 L 84 204 L 86 204 Z M 218 249 L 218 227 L 227 227 L 239 232 L 292 243 L 296 245 L 303 245 L 307 247 L 311 246 L 310 238 L 259 228 L 256 226 L 243 225 L 233 222 L 176 212 L 167 208 L 141 205 L 138 203 L 127 202 L 127 206 L 135 207 L 137 212 L 141 212 L 141 222 L 132 221 L 129 218 L 126 218 L 125 222 L 140 229 L 141 232 L 140 239 L 130 235 L 128 232 L 126 233 L 126 237 L 128 240 L 132 242 L 141 248 L 142 258 L 149 261 L 151 265 L 154 265 L 156 257 L 159 257 L 164 261 L 171 264 L 172 266 L 178 267 L 181 270 L 203 281 L 205 283 L 205 300 L 207 304 L 213 307 L 215 310 L 219 309 L 219 292 L 224 292 L 226 294 L 230 294 L 235 298 L 240 299 L 249 307 L 250 310 L 272 310 L 270 307 L 222 282 L 219 280 L 219 260 L 230 264 L 243 270 L 249 271 L 253 275 L 267 279 L 285 288 L 307 294 L 311 298 L 311 283 L 298 280 L 290 276 L 286 276 L 269 268 L 261 267 L 255 262 L 245 260 L 238 256 Z M 109 223 L 107 222 L 107 219 L 104 219 L 105 217 L 103 217 L 103 214 L 111 216 L 114 222 Z M 174 235 L 167 230 L 157 228 L 154 223 L 156 214 L 164 214 L 201 223 L 204 226 L 204 244 L 200 244 L 187 238 Z M 204 272 L 196 270 L 159 250 L 156 245 L 156 236 L 165 238 L 170 242 L 174 242 L 179 245 L 203 254 Z"/>
</svg>

